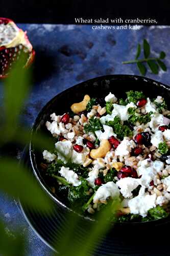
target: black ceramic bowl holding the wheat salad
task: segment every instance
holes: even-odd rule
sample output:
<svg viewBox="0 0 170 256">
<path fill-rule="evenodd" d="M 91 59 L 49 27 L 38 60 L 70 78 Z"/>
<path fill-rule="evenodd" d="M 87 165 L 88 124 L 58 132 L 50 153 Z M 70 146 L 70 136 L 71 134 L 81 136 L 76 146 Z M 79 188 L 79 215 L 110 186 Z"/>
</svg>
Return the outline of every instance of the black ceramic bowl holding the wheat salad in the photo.
<svg viewBox="0 0 170 256">
<path fill-rule="evenodd" d="M 103 99 L 104 97 L 112 92 L 116 95 L 117 98 L 126 98 L 126 91 L 129 90 L 141 90 L 145 95 L 150 98 L 154 98 L 157 95 L 161 95 L 165 98 L 168 108 L 170 109 L 170 89 L 165 84 L 161 82 L 154 81 L 149 78 L 140 77 L 140 76 L 133 76 L 133 75 L 108 75 L 93 78 L 91 80 L 82 82 L 77 84 L 74 87 L 71 87 L 64 92 L 55 96 L 52 100 L 50 100 L 44 108 L 40 111 L 39 115 L 37 116 L 35 123 L 33 125 L 33 136 L 36 136 L 40 132 L 48 133 L 45 122 L 50 120 L 50 115 L 52 113 L 56 113 L 57 115 L 61 115 L 62 113 L 68 112 L 70 110 L 70 105 L 75 102 L 79 102 L 83 99 L 85 94 L 89 94 L 90 97 L 96 97 L 99 99 Z M 33 135 L 34 134 L 34 135 Z M 50 135 L 50 134 L 49 134 Z M 42 177 L 42 173 L 39 169 L 39 164 L 42 161 L 42 148 L 41 151 L 36 150 L 36 146 L 34 143 L 30 142 L 30 158 L 33 168 L 33 173 L 38 180 L 40 186 L 44 189 L 44 191 L 50 196 L 50 198 L 63 210 L 72 211 L 69 209 L 64 202 L 55 196 L 48 185 L 45 183 L 45 180 Z M 83 217 L 85 218 L 85 217 Z M 94 220 L 88 218 L 89 220 Z M 168 218 L 161 219 L 158 221 L 151 221 L 147 223 L 131 223 L 132 225 L 145 225 L 149 224 L 152 225 L 160 225 L 165 224 L 170 220 Z M 127 225 L 128 223 L 117 224 L 117 225 Z"/>
</svg>

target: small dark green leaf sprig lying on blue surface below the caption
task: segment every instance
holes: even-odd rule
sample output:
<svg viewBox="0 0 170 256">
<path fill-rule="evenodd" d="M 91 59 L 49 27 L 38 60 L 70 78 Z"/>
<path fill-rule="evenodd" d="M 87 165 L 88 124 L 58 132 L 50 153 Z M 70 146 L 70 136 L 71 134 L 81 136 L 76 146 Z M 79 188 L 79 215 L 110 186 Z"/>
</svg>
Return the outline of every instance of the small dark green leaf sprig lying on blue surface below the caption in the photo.
<svg viewBox="0 0 170 256">
<path fill-rule="evenodd" d="M 147 39 L 143 39 L 143 54 L 144 58 L 138 59 L 140 54 L 141 54 L 141 45 L 138 44 L 137 46 L 137 52 L 136 52 L 136 57 L 133 60 L 129 61 L 123 61 L 123 64 L 130 64 L 130 63 L 136 63 L 137 67 L 139 69 L 139 72 L 141 75 L 145 75 L 147 72 L 147 68 L 143 65 L 143 62 L 147 62 L 147 65 L 149 66 L 150 70 L 152 71 L 153 74 L 158 74 L 159 73 L 159 68 L 162 69 L 163 71 L 166 71 L 166 65 L 162 61 L 162 59 L 165 58 L 166 54 L 161 51 L 159 54 L 159 57 L 150 57 L 151 53 L 151 47 Z"/>
</svg>

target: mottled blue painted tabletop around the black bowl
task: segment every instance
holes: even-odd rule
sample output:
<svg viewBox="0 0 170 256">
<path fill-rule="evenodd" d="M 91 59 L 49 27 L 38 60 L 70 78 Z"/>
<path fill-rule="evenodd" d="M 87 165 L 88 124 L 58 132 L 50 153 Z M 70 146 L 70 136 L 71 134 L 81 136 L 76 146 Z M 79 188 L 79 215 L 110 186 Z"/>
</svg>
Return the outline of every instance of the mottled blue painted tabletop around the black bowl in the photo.
<svg viewBox="0 0 170 256">
<path fill-rule="evenodd" d="M 134 58 L 136 45 L 147 38 L 155 56 L 161 50 L 167 57 L 167 72 L 147 77 L 170 84 L 170 27 L 141 27 L 140 30 L 92 30 L 91 26 L 76 25 L 24 25 L 37 52 L 36 78 L 32 92 L 22 111 L 22 121 L 32 126 L 42 106 L 59 92 L 81 81 L 106 74 L 135 74 L 136 65 L 122 65 L 122 61 Z M 0 86 L 0 98 L 3 98 Z M 90 93 L 90 92 L 89 92 Z M 19 159 L 20 151 L 16 157 Z M 46 256 L 51 250 L 31 230 L 20 214 L 15 202 L 1 196 L 0 214 L 10 227 L 21 226 L 28 232 L 26 255 Z"/>
</svg>

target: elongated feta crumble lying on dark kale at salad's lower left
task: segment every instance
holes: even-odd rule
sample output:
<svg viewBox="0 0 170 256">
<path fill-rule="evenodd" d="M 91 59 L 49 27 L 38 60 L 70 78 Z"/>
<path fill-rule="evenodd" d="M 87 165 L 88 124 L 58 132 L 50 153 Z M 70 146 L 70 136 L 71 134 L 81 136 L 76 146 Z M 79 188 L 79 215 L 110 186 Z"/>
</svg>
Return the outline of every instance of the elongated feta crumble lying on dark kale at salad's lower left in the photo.
<svg viewBox="0 0 170 256">
<path fill-rule="evenodd" d="M 73 170 L 62 166 L 59 170 L 59 173 L 62 177 L 66 179 L 66 181 L 68 181 L 69 184 L 72 184 L 76 187 L 81 185 L 81 181 L 79 180 L 78 175 Z"/>
</svg>

